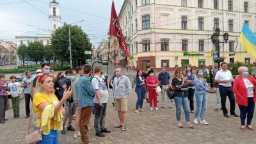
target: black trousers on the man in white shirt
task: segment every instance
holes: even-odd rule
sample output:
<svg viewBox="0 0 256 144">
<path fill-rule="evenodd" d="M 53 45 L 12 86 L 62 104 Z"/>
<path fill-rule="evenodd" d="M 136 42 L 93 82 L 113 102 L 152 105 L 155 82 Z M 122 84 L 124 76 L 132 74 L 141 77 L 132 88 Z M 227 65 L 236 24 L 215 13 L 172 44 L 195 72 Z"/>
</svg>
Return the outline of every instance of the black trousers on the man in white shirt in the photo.
<svg viewBox="0 0 256 144">
<path fill-rule="evenodd" d="M 226 100 L 227 96 L 230 102 L 230 115 L 234 115 L 235 109 L 236 109 L 236 99 L 234 96 L 233 88 L 230 87 L 225 87 L 219 85 L 219 90 L 220 90 L 220 101 L 221 101 L 221 108 L 223 111 L 223 115 L 227 114 L 227 108 L 226 108 Z"/>
</svg>

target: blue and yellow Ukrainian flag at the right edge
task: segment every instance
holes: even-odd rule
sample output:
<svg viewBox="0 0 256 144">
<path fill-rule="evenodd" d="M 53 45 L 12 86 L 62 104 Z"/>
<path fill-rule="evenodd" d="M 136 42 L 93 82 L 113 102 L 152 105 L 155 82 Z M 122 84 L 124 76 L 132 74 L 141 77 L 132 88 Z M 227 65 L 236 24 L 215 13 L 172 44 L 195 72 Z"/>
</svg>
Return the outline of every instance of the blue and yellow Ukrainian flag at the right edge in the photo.
<svg viewBox="0 0 256 144">
<path fill-rule="evenodd" d="M 256 35 L 246 23 L 244 23 L 238 42 L 243 44 L 244 51 L 256 58 Z"/>
</svg>

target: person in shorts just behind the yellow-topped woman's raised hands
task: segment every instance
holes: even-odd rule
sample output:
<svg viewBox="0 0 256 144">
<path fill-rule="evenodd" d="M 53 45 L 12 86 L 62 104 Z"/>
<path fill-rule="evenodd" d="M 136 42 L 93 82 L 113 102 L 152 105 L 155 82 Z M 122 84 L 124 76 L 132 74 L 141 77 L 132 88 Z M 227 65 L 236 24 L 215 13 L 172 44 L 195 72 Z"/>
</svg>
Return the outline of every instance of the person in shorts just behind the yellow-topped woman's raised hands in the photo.
<svg viewBox="0 0 256 144">
<path fill-rule="evenodd" d="M 71 69 L 68 69 L 68 70 L 66 70 L 65 74 L 66 74 L 66 77 L 64 79 L 61 79 L 61 81 L 60 81 L 61 90 L 65 90 L 66 87 L 68 89 L 71 86 L 71 79 L 73 76 L 73 71 Z M 65 124 L 67 122 L 67 119 L 68 119 L 67 131 L 75 131 L 75 129 L 71 125 L 72 118 L 76 114 L 76 104 L 73 100 L 72 95 L 66 100 L 66 102 L 64 103 L 64 107 L 65 107 L 66 113 L 65 113 L 65 116 L 63 116 L 63 118 L 62 118 L 63 130 L 61 131 L 61 134 L 66 134 Z"/>
</svg>

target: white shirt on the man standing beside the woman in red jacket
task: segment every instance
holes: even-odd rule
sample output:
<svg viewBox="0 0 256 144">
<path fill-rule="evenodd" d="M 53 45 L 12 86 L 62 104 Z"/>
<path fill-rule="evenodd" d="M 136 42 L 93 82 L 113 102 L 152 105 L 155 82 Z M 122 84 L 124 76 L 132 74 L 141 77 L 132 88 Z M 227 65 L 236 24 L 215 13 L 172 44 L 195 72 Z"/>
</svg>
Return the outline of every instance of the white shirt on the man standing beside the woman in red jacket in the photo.
<svg viewBox="0 0 256 144">
<path fill-rule="evenodd" d="M 234 80 L 230 70 L 226 70 L 226 71 L 219 70 L 216 73 L 215 79 L 218 79 L 220 81 L 228 80 L 228 83 L 219 83 L 219 85 L 225 86 L 225 87 L 231 86 L 231 81 Z"/>
</svg>

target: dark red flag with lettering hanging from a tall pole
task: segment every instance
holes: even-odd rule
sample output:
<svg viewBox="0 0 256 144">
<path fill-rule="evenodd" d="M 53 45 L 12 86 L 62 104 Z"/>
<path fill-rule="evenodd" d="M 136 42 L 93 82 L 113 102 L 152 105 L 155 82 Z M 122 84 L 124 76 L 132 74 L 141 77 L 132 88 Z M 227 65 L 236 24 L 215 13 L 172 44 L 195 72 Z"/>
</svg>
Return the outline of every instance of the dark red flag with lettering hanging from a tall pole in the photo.
<svg viewBox="0 0 256 144">
<path fill-rule="evenodd" d="M 116 36 L 119 42 L 119 46 L 124 50 L 125 56 L 129 57 L 129 51 L 127 49 L 126 42 L 124 40 L 124 35 L 122 29 L 120 27 L 119 19 L 116 14 L 115 4 L 114 1 L 112 2 L 111 8 L 111 19 L 110 19 L 110 31 L 109 35 Z"/>
</svg>

